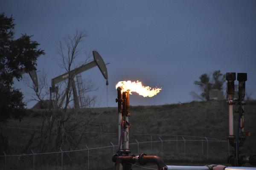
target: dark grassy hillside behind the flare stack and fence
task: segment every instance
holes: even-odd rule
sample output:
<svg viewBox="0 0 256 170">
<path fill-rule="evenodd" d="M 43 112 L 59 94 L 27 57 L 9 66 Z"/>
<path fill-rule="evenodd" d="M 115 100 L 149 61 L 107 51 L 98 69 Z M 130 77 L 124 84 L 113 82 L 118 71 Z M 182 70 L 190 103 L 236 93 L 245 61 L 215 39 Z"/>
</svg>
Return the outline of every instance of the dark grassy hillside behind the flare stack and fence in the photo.
<svg viewBox="0 0 256 170">
<path fill-rule="evenodd" d="M 238 106 L 234 106 L 234 111 L 238 110 Z M 131 127 L 130 134 L 160 134 L 160 135 L 183 135 L 183 136 L 201 136 L 207 138 L 227 140 L 229 133 L 229 118 L 228 118 L 228 105 L 226 101 L 209 101 L 209 102 L 189 102 L 170 105 L 152 105 L 152 106 L 130 106 L 129 111 L 131 116 L 129 122 Z M 256 141 L 256 101 L 248 101 L 244 106 L 246 115 L 245 118 L 245 131 L 249 131 L 251 136 L 248 136 L 241 147 L 241 154 L 250 156 L 256 153 L 254 147 Z M 21 127 L 30 129 L 40 129 L 42 123 L 42 115 L 44 111 L 28 110 L 27 116 L 19 123 L 18 120 L 9 120 L 9 127 Z M 95 118 L 87 129 L 87 132 L 102 132 L 102 133 L 117 133 L 117 108 L 95 108 L 93 117 Z M 237 131 L 237 114 L 234 114 L 234 132 Z M 5 128 L 4 134 L 8 136 L 9 145 L 13 150 L 9 151 L 9 155 L 15 154 L 22 150 L 26 142 L 30 138 L 30 134 L 35 131 L 36 135 L 40 133 L 36 130 L 14 129 Z M 237 135 L 236 135 L 237 136 Z M 135 139 L 139 142 L 150 141 L 150 136 L 129 136 L 130 143 L 136 143 Z M 153 136 L 154 140 L 170 140 L 166 136 Z M 103 139 L 102 139 L 103 138 Z M 102 140 L 101 140 L 102 139 Z M 110 146 L 117 144 L 116 135 L 103 135 L 87 133 L 79 148 L 93 148 L 101 146 Z M 86 147 L 86 146 L 87 147 Z M 202 142 L 186 142 L 186 156 L 184 157 L 184 144 L 180 142 L 178 147 L 175 142 L 163 142 L 164 150 L 161 150 L 161 143 L 154 143 L 151 150 L 150 144 L 140 144 L 140 153 L 147 155 L 160 156 L 166 164 L 169 165 L 200 165 L 205 164 L 227 164 L 227 145 L 209 142 L 209 159 L 206 158 L 206 142 L 204 145 L 204 154 L 202 154 Z M 32 144 L 29 150 L 36 151 L 35 146 Z M 116 149 L 116 148 L 115 148 Z M 131 145 L 130 149 L 133 154 L 137 154 L 137 145 Z M 233 148 L 230 147 L 230 153 Z M 0 153 L 3 155 L 3 153 Z M 102 150 L 90 150 L 90 169 L 103 167 L 102 169 L 113 169 L 113 162 L 111 156 L 113 155 L 113 148 Z M 46 158 L 44 158 L 46 160 Z M 46 164 L 43 158 L 39 161 L 37 158 L 37 169 L 51 170 L 60 169 L 61 163 L 58 158 L 58 166 L 55 166 L 54 161 L 52 164 Z M 65 156 L 67 161 L 64 162 L 63 169 L 81 169 L 87 168 L 87 151 L 80 154 L 69 154 Z M 70 161 L 70 159 L 73 159 Z M 30 162 L 20 163 L 15 165 L 16 169 L 28 169 L 31 166 Z M 39 163 L 41 162 L 41 164 Z M 67 163 L 72 162 L 72 163 Z M 99 164 L 99 162 L 101 162 Z M 1 161 L 3 163 L 3 161 Z M 29 166 L 28 166 L 29 164 Z M 46 165 L 44 165 L 46 164 Z M 156 167 L 156 165 L 146 165 L 148 167 Z M 32 168 L 32 167 L 31 167 Z M 134 167 L 133 169 L 141 169 Z"/>
</svg>

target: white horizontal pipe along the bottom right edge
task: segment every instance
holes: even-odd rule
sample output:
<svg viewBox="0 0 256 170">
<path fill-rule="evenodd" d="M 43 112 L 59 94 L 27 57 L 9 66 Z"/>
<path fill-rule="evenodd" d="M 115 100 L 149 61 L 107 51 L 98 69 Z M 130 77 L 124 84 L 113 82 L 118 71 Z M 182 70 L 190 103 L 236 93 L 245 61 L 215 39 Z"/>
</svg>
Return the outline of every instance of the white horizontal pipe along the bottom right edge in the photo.
<svg viewBox="0 0 256 170">
<path fill-rule="evenodd" d="M 166 165 L 166 167 L 168 168 L 168 170 L 210 170 L 207 166 Z M 225 167 L 224 170 L 256 170 L 256 167 Z"/>
</svg>

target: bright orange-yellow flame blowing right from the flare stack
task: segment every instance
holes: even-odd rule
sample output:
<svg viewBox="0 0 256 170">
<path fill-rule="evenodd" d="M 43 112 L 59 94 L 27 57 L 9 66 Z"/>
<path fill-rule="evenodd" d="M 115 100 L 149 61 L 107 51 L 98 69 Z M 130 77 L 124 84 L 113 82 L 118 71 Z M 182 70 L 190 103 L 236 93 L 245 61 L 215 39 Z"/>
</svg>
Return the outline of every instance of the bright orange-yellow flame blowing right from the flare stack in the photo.
<svg viewBox="0 0 256 170">
<path fill-rule="evenodd" d="M 149 86 L 147 87 L 143 86 L 139 80 L 137 80 L 137 82 L 131 82 L 131 81 L 118 82 L 116 84 L 116 88 L 118 87 L 122 88 L 122 92 L 129 90 L 129 94 L 131 94 L 131 92 L 134 91 L 143 97 L 147 97 L 147 96 L 152 97 L 157 93 L 159 93 L 160 90 L 162 90 L 161 88 L 153 88 L 152 90 L 150 90 L 151 88 Z"/>
</svg>

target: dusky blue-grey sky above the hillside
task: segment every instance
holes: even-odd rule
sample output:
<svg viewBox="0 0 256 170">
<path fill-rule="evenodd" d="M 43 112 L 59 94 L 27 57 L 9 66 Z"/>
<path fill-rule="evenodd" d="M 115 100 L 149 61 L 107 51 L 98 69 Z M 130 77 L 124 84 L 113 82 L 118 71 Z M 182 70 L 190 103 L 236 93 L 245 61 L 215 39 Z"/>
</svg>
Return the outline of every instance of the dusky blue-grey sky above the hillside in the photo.
<svg viewBox="0 0 256 170">
<path fill-rule="evenodd" d="M 98 90 L 97 107 L 117 107 L 115 85 L 141 81 L 162 90 L 153 97 L 130 95 L 130 105 L 191 102 L 201 74 L 247 73 L 246 92 L 256 99 L 256 0 L 1 0 L 0 12 L 15 19 L 15 38 L 27 34 L 46 53 L 38 77 L 63 74 L 57 42 L 86 30 L 87 52 L 98 51 L 108 69 L 82 73 Z M 81 60 L 85 55 L 81 54 Z M 78 61 L 79 62 L 79 61 Z M 235 82 L 238 84 L 238 81 Z M 25 98 L 31 89 L 15 82 Z M 49 96 L 48 96 L 49 98 Z M 32 108 L 36 102 L 28 102 Z"/>
</svg>

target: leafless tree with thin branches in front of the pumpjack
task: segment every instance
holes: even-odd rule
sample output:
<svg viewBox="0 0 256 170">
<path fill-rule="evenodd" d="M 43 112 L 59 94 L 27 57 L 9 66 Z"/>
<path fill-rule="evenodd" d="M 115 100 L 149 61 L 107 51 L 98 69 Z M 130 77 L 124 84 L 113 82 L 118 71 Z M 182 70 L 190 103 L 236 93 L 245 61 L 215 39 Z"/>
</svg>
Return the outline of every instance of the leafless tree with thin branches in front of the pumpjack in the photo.
<svg viewBox="0 0 256 170">
<path fill-rule="evenodd" d="M 78 68 L 79 66 L 86 64 L 90 59 L 90 55 L 83 52 L 84 38 L 87 36 L 86 31 L 76 31 L 73 36 L 67 36 L 62 41 L 58 41 L 56 48 L 60 58 L 59 66 L 64 68 L 66 73 Z M 77 62 L 79 56 L 85 55 L 83 62 Z M 79 63 L 79 64 L 77 64 Z M 35 97 L 33 99 L 37 101 L 45 102 L 46 96 L 49 96 L 49 89 L 46 79 L 46 74 L 40 78 L 38 91 L 33 85 L 29 85 L 34 89 Z M 93 108 L 96 105 L 96 96 L 86 97 L 87 109 L 79 109 L 70 105 L 73 101 L 72 86 L 74 85 L 75 74 L 68 74 L 68 78 L 65 82 L 58 84 L 58 98 L 54 100 L 56 104 L 60 103 L 62 96 L 65 95 L 66 102 L 64 108 L 61 107 L 49 107 L 44 110 L 41 125 L 41 136 L 34 139 L 37 147 L 40 148 L 40 152 L 46 152 L 49 150 L 73 150 L 79 148 L 79 143 L 84 139 L 84 132 L 87 130 L 87 125 L 94 119 Z M 90 92 L 95 90 L 95 85 L 92 82 L 84 82 L 84 91 Z M 43 91 L 45 94 L 43 94 Z M 48 100 L 47 100 L 48 101 Z M 71 102 L 72 103 L 72 102 Z M 53 104 L 55 105 L 55 104 Z"/>
</svg>

